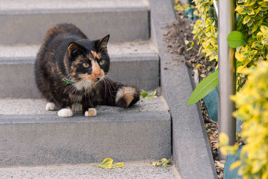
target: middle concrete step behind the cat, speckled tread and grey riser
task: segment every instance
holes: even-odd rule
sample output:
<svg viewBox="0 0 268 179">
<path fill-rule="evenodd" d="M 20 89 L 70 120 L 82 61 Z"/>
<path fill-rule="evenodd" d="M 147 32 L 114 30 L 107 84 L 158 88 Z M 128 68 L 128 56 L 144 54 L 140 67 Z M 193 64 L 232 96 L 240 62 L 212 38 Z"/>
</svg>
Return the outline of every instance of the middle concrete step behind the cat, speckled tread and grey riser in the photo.
<svg viewBox="0 0 268 179">
<path fill-rule="evenodd" d="M 34 62 L 40 45 L 0 46 L 0 98 L 40 98 Z M 109 76 L 115 81 L 158 82 L 159 58 L 149 41 L 108 44 Z"/>
</svg>

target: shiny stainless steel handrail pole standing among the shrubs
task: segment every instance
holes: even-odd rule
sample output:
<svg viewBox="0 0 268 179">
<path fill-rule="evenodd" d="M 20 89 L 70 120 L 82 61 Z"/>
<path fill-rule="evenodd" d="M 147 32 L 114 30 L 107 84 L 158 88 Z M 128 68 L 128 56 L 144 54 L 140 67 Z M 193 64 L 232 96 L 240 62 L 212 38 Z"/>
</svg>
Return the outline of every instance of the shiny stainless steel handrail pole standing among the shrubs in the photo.
<svg viewBox="0 0 268 179">
<path fill-rule="evenodd" d="M 235 110 L 230 95 L 236 93 L 235 49 L 227 42 L 227 36 L 235 30 L 235 0 L 218 0 L 218 134 L 226 133 L 229 145 L 236 141 Z M 219 160 L 226 160 L 218 149 Z"/>
</svg>

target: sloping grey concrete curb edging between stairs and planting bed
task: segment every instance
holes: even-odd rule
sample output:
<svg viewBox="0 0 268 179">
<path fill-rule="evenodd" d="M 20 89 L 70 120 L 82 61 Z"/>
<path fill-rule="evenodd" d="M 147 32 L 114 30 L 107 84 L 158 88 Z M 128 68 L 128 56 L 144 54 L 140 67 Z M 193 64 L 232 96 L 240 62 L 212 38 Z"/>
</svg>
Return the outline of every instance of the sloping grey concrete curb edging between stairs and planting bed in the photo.
<svg viewBox="0 0 268 179">
<path fill-rule="evenodd" d="M 198 103 L 186 106 L 194 90 L 192 75 L 184 56 L 166 52 L 165 26 L 176 20 L 172 0 L 149 0 L 151 38 L 160 58 L 161 94 L 172 119 L 175 167 L 181 178 L 218 178 Z M 175 59 L 175 60 L 170 60 Z"/>
</svg>

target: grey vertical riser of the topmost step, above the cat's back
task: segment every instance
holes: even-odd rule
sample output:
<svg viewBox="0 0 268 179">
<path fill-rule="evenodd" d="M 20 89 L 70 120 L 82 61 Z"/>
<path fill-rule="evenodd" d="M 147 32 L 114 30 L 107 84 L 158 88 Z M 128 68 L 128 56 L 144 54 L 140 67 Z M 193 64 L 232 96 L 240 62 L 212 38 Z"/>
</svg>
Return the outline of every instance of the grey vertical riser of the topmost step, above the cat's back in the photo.
<svg viewBox="0 0 268 179">
<path fill-rule="evenodd" d="M 73 23 L 89 39 L 100 39 L 110 34 L 109 42 L 149 39 L 148 9 L 125 8 L 79 12 L 2 12 L 0 14 L 0 44 L 40 44 L 45 32 L 57 23 Z"/>
</svg>

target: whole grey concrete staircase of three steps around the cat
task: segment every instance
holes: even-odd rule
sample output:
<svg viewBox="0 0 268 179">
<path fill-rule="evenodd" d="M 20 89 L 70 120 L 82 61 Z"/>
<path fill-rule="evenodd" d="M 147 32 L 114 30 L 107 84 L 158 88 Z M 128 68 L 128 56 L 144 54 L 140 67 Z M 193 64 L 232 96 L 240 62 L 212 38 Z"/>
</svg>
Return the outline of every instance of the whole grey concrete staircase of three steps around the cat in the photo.
<svg viewBox="0 0 268 179">
<path fill-rule="evenodd" d="M 110 34 L 113 80 L 159 82 L 149 14 L 147 0 L 0 0 L 0 167 L 171 156 L 170 114 L 161 96 L 130 109 L 98 106 L 92 118 L 60 118 L 45 111 L 34 81 L 45 32 L 68 22 L 89 39 Z"/>
</svg>

